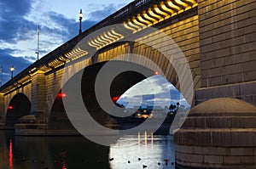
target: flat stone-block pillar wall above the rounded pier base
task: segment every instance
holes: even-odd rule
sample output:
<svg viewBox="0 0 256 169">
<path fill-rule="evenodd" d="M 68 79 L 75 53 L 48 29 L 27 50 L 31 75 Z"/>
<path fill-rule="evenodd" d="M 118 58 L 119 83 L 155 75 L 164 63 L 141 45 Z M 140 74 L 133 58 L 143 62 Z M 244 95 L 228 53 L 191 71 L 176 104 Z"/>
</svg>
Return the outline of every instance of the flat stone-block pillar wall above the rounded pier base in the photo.
<svg viewBox="0 0 256 169">
<path fill-rule="evenodd" d="M 195 104 L 236 98 L 256 105 L 255 15 L 253 1 L 198 1 L 201 89 Z"/>
</svg>

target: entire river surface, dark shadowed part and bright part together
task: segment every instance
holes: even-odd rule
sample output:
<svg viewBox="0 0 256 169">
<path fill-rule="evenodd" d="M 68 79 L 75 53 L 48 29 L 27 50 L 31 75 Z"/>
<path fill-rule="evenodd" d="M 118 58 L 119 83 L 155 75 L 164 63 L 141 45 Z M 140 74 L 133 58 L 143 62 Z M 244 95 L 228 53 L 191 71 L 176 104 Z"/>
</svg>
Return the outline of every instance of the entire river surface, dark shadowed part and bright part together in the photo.
<svg viewBox="0 0 256 169">
<path fill-rule="evenodd" d="M 0 131 L 0 169 L 175 168 L 172 136 L 123 136 L 110 147 L 82 136 L 24 137 Z"/>
</svg>

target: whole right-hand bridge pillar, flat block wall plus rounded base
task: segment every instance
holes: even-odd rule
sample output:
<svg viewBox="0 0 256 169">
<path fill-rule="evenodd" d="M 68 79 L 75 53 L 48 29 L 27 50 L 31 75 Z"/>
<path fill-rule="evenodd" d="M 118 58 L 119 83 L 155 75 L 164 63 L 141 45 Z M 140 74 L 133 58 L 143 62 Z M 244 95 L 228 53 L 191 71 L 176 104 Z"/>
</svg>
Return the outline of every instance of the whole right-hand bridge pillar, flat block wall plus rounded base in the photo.
<svg viewBox="0 0 256 169">
<path fill-rule="evenodd" d="M 197 2 L 201 88 L 174 134 L 177 168 L 256 168 L 256 2 Z"/>
</svg>

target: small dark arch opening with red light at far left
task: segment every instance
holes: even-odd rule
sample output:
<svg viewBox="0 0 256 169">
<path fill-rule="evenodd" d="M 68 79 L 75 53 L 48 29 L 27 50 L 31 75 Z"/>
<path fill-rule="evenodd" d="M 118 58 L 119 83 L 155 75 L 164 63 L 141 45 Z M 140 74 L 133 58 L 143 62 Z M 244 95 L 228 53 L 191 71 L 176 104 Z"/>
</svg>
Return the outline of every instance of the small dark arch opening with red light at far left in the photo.
<svg viewBox="0 0 256 169">
<path fill-rule="evenodd" d="M 28 115 L 31 111 L 31 102 L 24 93 L 17 93 L 10 100 L 7 110 L 5 127 L 14 128 L 15 122 L 23 115 Z"/>
</svg>

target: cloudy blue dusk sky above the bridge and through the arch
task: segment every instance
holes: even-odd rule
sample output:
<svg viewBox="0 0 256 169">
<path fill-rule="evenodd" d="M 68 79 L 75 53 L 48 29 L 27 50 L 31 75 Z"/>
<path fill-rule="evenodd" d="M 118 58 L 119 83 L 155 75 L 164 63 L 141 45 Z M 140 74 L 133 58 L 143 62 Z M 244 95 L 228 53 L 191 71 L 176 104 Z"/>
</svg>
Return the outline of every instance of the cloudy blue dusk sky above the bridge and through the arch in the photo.
<svg viewBox="0 0 256 169">
<path fill-rule="evenodd" d="M 37 59 L 38 25 L 40 25 L 39 59 L 61 44 L 76 37 L 79 33 L 79 10 L 83 10 L 82 29 L 90 26 L 113 14 L 119 8 L 125 7 L 132 0 L 1 0 L 0 2 L 0 66 L 3 68 L 2 84 L 11 78 L 10 67 L 15 67 L 14 76 L 31 65 Z M 179 92 L 170 82 L 161 76 L 151 78 L 157 90 L 172 91 L 172 102 L 184 101 Z M 137 92 L 144 95 L 152 94 L 152 87 L 148 81 L 143 81 L 124 94 L 123 101 L 130 98 L 136 104 L 140 99 Z M 133 91 L 133 92 L 132 92 Z M 161 106 L 170 99 L 155 100 Z M 133 99 L 131 99 L 133 98 Z M 148 98 L 148 103 L 152 103 Z M 131 106 L 131 105 L 130 105 Z"/>
</svg>

